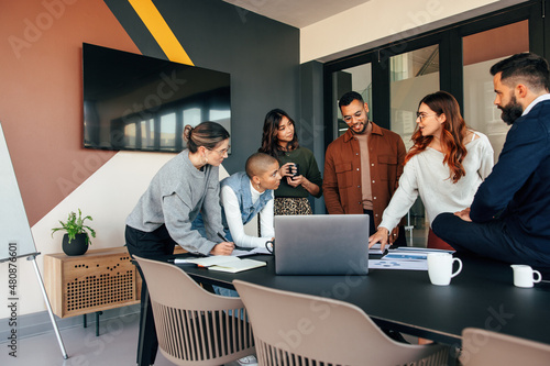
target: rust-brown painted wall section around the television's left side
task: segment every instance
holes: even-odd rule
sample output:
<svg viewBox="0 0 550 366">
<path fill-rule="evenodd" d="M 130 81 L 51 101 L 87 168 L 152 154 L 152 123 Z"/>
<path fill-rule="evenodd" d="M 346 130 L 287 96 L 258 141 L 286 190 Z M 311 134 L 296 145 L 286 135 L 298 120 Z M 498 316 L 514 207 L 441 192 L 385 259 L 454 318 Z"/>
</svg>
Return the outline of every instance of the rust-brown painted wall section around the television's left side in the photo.
<svg viewBox="0 0 550 366">
<path fill-rule="evenodd" d="M 139 51 L 102 0 L 0 9 L 0 122 L 33 225 L 113 155 L 81 147 L 82 42 Z"/>
</svg>

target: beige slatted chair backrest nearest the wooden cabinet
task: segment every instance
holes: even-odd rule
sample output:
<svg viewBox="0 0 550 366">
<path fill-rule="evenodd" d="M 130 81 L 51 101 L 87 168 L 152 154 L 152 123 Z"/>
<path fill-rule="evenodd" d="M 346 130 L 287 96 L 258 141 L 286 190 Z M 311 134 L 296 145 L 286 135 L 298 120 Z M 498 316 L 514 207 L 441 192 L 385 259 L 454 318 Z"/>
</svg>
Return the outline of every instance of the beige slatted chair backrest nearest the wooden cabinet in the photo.
<svg viewBox="0 0 550 366">
<path fill-rule="evenodd" d="M 210 293 L 175 265 L 140 258 L 161 352 L 177 365 L 220 365 L 254 353 L 239 298 Z"/>
</svg>

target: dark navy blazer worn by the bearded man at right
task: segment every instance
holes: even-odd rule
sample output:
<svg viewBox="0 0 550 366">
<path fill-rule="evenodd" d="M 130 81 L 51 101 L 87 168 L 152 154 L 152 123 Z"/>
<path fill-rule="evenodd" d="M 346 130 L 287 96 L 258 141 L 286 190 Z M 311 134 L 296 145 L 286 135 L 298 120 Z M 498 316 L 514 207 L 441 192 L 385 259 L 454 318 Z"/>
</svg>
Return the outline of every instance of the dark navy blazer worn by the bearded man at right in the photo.
<svg viewBox="0 0 550 366">
<path fill-rule="evenodd" d="M 550 254 L 550 100 L 514 122 L 498 163 L 475 193 L 470 218 L 504 220 L 515 240 Z"/>
</svg>

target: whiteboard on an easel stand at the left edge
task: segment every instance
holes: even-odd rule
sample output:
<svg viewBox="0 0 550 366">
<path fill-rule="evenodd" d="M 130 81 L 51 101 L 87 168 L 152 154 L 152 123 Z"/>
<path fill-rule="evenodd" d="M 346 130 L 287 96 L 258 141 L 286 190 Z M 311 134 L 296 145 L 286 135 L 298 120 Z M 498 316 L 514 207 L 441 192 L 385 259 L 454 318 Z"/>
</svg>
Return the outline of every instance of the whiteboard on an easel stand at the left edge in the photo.
<svg viewBox="0 0 550 366">
<path fill-rule="evenodd" d="M 13 251 L 15 249 L 15 251 Z M 36 253 L 0 123 L 0 262 Z"/>
</svg>

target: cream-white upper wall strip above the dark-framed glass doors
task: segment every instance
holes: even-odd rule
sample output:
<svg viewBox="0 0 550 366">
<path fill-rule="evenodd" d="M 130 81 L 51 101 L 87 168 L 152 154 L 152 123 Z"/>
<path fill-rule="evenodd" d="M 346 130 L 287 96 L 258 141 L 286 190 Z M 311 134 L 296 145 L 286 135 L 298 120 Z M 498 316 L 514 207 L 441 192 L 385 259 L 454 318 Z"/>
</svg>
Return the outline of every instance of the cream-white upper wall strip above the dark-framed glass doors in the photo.
<svg viewBox="0 0 550 366">
<path fill-rule="evenodd" d="M 300 63 L 329 60 L 526 0 L 371 0 L 300 30 Z"/>
</svg>

